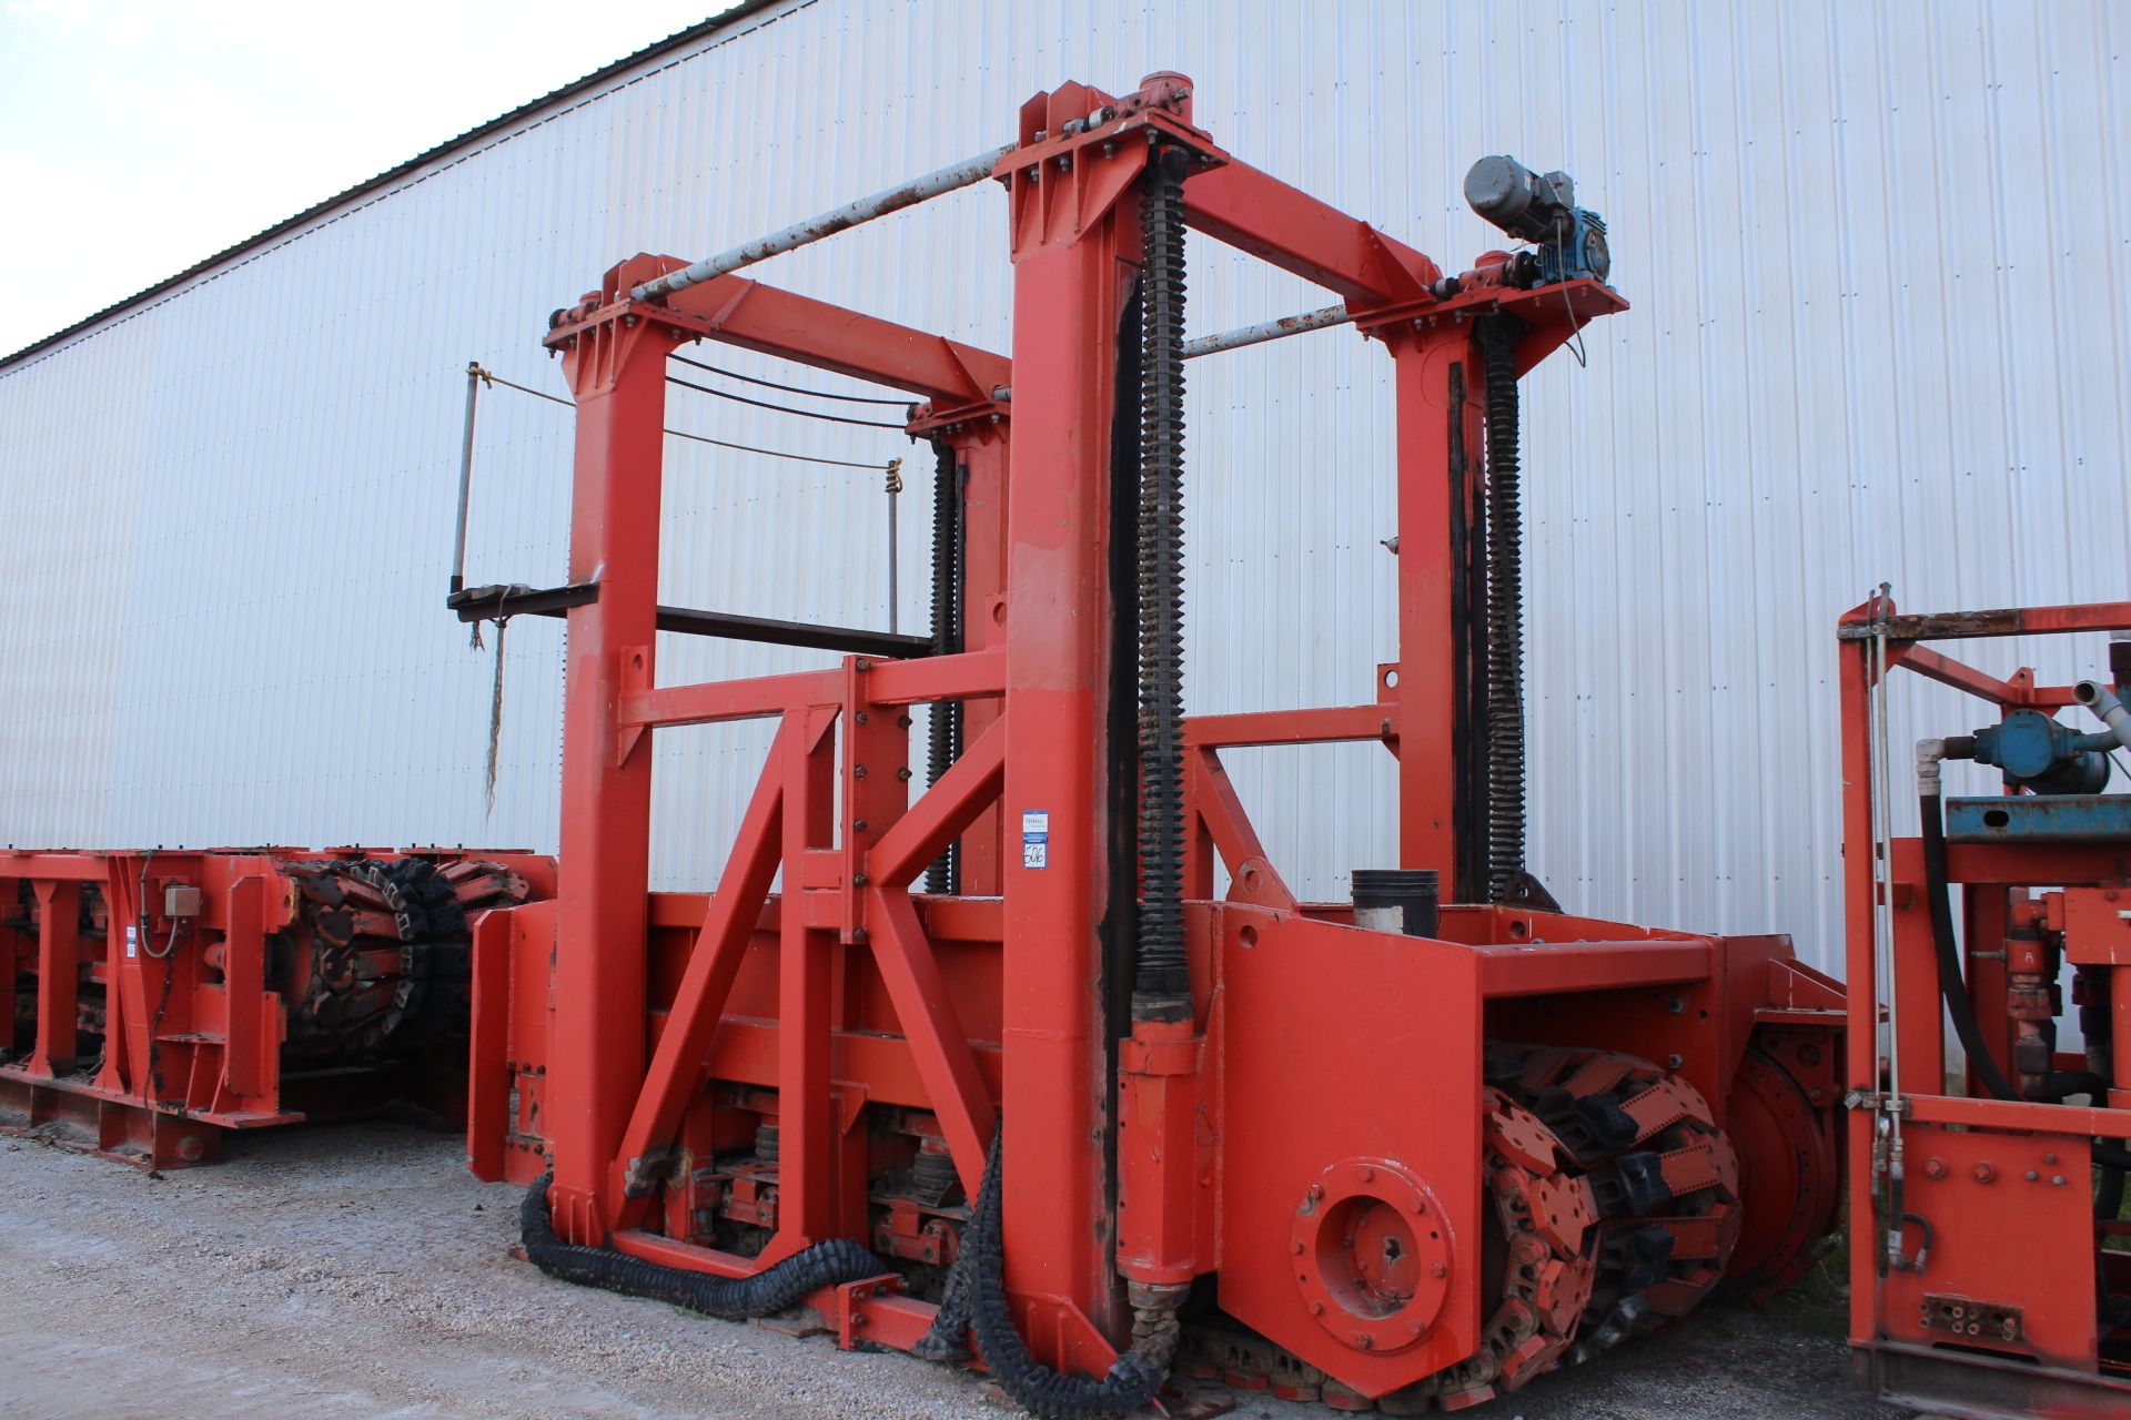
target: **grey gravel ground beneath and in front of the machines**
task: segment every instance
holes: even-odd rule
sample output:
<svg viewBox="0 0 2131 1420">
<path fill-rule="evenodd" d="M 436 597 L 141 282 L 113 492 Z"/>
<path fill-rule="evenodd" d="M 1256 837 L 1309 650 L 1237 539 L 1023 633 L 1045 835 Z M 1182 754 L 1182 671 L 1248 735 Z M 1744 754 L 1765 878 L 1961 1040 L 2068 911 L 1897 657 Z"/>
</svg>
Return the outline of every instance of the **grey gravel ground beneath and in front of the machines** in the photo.
<svg viewBox="0 0 2131 1420">
<path fill-rule="evenodd" d="M 456 1139 L 398 1124 L 273 1130 L 168 1177 L 0 1141 L 0 1416 L 1014 1414 L 908 1356 L 550 1282 L 507 1252 L 516 1203 Z M 1894 1420 L 1826 1322 L 1715 1307 L 1468 1414 Z"/>
</svg>

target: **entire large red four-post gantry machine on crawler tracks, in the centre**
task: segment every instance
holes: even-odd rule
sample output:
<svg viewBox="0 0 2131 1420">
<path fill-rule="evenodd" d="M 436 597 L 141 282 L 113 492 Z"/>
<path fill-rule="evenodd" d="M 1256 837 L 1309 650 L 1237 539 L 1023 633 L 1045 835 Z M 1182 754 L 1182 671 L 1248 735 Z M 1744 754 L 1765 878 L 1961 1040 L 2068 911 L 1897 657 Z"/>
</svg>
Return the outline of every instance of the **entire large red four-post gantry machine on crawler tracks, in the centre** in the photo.
<svg viewBox="0 0 2131 1420">
<path fill-rule="evenodd" d="M 733 275 L 987 177 L 1010 356 Z M 1524 871 L 1515 381 L 1626 302 L 1566 175 L 1466 187 L 1532 245 L 1449 275 L 1225 153 L 1183 77 L 1068 83 L 1004 149 L 554 313 L 569 585 L 452 594 L 569 622 L 558 892 L 475 926 L 471 1156 L 535 1184 L 533 1260 L 718 1316 L 806 1299 L 846 1345 L 974 1337 L 1044 1416 L 1172 1369 L 1458 1409 L 1807 1265 L 1839 988 Z M 1360 703 L 1183 715 L 1183 360 L 1281 332 L 1187 349 L 1185 228 L 1343 302 L 1276 326 L 1392 360 L 1398 647 Z M 661 630 L 840 639 L 656 600 L 695 341 L 923 400 L 931 637 L 658 679 Z M 652 737 L 737 720 L 776 739 L 716 890 L 650 892 Z M 1302 903 L 1221 756 L 1332 741 L 1387 752 L 1398 858 Z"/>
</svg>

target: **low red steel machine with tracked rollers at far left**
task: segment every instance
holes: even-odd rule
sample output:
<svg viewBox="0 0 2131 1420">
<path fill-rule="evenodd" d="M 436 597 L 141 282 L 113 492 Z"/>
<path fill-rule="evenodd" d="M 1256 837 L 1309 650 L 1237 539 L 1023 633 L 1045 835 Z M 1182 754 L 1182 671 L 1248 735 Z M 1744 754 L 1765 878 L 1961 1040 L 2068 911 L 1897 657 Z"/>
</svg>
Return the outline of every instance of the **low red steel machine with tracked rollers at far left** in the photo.
<svg viewBox="0 0 2131 1420">
<path fill-rule="evenodd" d="M 0 1133 L 175 1169 L 394 1099 L 456 1126 L 469 913 L 550 892 L 524 854 L 0 854 Z"/>
</svg>

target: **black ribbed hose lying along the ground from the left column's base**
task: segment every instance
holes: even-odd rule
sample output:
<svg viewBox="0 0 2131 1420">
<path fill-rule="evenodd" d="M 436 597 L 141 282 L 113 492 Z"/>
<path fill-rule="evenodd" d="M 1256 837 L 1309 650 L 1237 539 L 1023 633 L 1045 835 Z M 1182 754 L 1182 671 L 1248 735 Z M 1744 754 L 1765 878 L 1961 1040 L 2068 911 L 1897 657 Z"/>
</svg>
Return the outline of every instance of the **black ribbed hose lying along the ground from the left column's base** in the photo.
<svg viewBox="0 0 2131 1420">
<path fill-rule="evenodd" d="M 556 1237 L 554 1220 L 548 1216 L 548 1186 L 552 1182 L 554 1173 L 543 1173 L 526 1190 L 526 1199 L 518 1207 L 518 1237 L 526 1258 L 563 1282 L 597 1286 L 624 1297 L 669 1301 L 703 1316 L 742 1322 L 784 1311 L 808 1292 L 818 1292 L 825 1286 L 863 1282 L 895 1271 L 848 1237 L 831 1237 L 801 1248 L 752 1277 L 714 1277 L 646 1262 L 612 1248 L 565 1243 Z"/>
</svg>

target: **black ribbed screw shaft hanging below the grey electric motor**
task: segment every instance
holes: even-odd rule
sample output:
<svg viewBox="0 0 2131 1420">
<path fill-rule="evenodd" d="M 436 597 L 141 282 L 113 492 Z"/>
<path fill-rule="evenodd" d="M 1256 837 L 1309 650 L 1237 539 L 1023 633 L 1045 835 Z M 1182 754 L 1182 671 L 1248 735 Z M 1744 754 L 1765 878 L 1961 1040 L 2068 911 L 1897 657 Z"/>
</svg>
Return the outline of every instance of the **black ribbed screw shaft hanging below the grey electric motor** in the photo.
<svg viewBox="0 0 2131 1420">
<path fill-rule="evenodd" d="M 1494 315 L 1475 336 L 1487 373 L 1487 901 L 1524 873 L 1524 490 L 1517 334 Z"/>
</svg>

